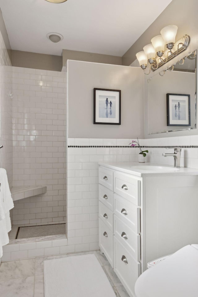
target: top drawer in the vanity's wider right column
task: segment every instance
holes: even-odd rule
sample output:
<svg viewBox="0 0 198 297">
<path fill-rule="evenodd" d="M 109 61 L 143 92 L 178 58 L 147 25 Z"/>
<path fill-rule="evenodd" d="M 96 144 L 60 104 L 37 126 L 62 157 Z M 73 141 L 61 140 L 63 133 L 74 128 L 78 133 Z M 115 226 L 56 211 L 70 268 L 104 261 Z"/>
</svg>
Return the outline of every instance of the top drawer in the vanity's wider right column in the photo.
<svg viewBox="0 0 198 297">
<path fill-rule="evenodd" d="M 114 192 L 140 206 L 141 181 L 130 174 L 114 173 Z"/>
</svg>

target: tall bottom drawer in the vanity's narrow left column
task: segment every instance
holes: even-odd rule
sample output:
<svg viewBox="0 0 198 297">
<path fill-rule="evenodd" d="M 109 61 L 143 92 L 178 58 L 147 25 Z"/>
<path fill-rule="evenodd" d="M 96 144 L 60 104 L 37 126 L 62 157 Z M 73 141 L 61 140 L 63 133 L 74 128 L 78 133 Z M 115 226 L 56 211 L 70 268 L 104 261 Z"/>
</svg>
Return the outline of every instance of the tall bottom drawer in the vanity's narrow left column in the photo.
<svg viewBox="0 0 198 297">
<path fill-rule="evenodd" d="M 113 267 L 113 233 L 99 218 L 99 247 Z"/>
</svg>

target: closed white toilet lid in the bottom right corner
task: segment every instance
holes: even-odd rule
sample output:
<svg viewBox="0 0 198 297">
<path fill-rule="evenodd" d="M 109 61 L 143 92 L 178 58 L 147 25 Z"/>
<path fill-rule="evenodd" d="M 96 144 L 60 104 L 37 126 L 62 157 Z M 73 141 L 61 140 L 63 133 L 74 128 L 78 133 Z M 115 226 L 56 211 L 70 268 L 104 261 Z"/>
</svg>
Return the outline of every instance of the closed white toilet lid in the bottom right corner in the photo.
<svg viewBox="0 0 198 297">
<path fill-rule="evenodd" d="M 136 297 L 197 297 L 198 244 L 187 245 L 140 275 Z"/>
</svg>

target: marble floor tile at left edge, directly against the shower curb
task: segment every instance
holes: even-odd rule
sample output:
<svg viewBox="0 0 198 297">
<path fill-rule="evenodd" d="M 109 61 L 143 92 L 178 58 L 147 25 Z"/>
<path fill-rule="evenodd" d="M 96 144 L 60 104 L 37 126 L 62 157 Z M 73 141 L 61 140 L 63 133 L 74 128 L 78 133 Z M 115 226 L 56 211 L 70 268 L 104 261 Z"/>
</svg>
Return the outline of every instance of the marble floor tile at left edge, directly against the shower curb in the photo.
<svg viewBox="0 0 198 297">
<path fill-rule="evenodd" d="M 2 262 L 0 266 L 0 281 L 34 276 L 35 259 Z"/>
</svg>

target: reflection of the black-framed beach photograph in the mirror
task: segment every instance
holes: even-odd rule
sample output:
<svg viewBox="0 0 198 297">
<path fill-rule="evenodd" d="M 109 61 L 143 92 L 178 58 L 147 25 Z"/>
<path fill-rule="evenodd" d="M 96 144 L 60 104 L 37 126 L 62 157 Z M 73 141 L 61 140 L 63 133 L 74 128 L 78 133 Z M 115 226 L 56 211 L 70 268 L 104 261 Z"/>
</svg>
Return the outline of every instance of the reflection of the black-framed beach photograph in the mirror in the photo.
<svg viewBox="0 0 198 297">
<path fill-rule="evenodd" d="M 167 126 L 190 126 L 190 95 L 166 94 Z"/>
</svg>

